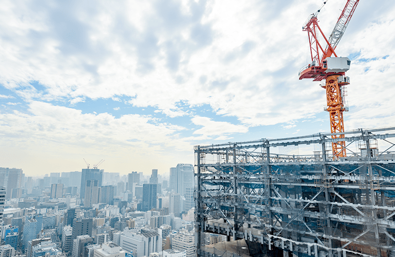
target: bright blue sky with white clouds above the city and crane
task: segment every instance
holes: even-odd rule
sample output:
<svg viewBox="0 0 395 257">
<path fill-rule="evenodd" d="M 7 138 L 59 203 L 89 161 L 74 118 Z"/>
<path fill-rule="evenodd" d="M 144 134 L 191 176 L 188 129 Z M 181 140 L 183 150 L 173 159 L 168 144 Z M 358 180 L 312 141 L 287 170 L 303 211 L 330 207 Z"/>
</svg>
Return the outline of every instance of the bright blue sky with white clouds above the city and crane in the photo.
<svg viewBox="0 0 395 257">
<path fill-rule="evenodd" d="M 194 146 L 329 132 L 325 90 L 298 80 L 322 0 L 3 0 L 0 167 L 166 173 Z M 326 36 L 346 0 L 318 14 Z M 361 0 L 345 129 L 395 126 L 395 1 Z"/>
</svg>

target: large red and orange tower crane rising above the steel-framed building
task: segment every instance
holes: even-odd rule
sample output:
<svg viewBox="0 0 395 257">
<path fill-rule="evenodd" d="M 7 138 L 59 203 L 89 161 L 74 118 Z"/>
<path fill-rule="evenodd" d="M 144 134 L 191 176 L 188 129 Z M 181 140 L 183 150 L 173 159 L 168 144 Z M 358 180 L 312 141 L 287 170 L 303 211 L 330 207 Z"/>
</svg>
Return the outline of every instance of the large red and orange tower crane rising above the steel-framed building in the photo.
<svg viewBox="0 0 395 257">
<path fill-rule="evenodd" d="M 318 26 L 317 14 L 326 3 L 323 2 L 320 9 L 310 15 L 303 26 L 303 31 L 309 35 L 310 53 L 312 62 L 299 71 L 299 80 L 313 79 L 321 81 L 321 87 L 326 89 L 326 107 L 324 110 L 329 112 L 330 131 L 334 133 L 333 139 L 344 138 L 343 112 L 348 111 L 345 102 L 346 85 L 350 84 L 350 78 L 346 77 L 346 71 L 350 69 L 351 61 L 347 57 L 338 57 L 335 49 L 354 14 L 359 0 L 347 0 L 340 17 L 337 20 L 329 39 L 325 37 L 321 28 Z M 321 34 L 325 40 L 326 47 L 323 48 L 319 43 L 318 36 Z M 332 54 L 334 57 L 331 57 Z M 346 143 L 344 141 L 332 142 L 333 159 L 346 157 Z"/>
</svg>

